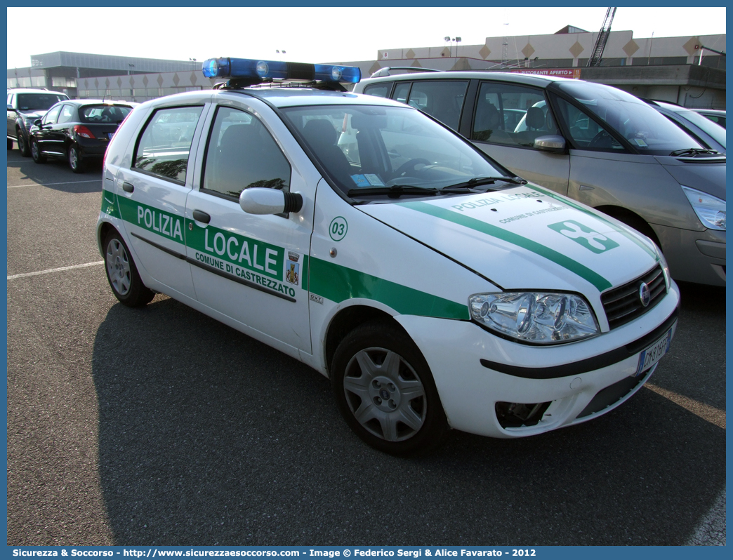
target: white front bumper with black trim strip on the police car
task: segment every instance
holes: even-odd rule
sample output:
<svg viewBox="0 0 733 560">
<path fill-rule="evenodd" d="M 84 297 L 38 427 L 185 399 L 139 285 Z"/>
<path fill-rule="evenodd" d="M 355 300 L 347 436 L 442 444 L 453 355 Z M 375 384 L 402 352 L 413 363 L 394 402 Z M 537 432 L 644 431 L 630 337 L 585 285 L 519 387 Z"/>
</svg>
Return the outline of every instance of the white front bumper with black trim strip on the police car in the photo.
<svg viewBox="0 0 733 560">
<path fill-rule="evenodd" d="M 396 319 L 430 364 L 451 427 L 520 438 L 592 419 L 631 397 L 655 369 L 636 376 L 639 353 L 668 329 L 674 335 L 678 305 L 673 283 L 663 301 L 638 319 L 593 339 L 553 347 L 501 339 L 468 321 Z M 531 425 L 512 426 L 499 418 L 508 403 L 543 406 L 539 418 L 527 422 Z"/>
</svg>

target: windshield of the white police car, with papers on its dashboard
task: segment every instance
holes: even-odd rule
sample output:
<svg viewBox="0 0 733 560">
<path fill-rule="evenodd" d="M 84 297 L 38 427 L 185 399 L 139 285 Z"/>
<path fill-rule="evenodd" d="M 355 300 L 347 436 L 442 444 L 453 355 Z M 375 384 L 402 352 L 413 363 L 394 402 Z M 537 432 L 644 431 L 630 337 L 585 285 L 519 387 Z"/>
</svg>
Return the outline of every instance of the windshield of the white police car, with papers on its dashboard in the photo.
<svg viewBox="0 0 733 560">
<path fill-rule="evenodd" d="M 438 190 L 474 177 L 512 175 L 411 108 L 340 105 L 282 111 L 350 196 L 358 196 L 360 188 Z"/>
</svg>

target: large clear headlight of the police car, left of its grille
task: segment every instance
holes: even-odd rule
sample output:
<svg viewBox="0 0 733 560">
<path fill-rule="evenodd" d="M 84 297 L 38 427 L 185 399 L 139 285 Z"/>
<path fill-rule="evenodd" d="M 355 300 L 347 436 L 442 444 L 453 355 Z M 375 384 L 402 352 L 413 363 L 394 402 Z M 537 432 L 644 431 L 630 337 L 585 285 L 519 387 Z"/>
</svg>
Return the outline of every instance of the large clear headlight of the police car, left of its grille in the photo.
<svg viewBox="0 0 733 560">
<path fill-rule="evenodd" d="M 480 325 L 522 342 L 551 345 L 600 333 L 588 302 L 579 295 L 547 292 L 476 294 L 468 298 Z"/>
</svg>

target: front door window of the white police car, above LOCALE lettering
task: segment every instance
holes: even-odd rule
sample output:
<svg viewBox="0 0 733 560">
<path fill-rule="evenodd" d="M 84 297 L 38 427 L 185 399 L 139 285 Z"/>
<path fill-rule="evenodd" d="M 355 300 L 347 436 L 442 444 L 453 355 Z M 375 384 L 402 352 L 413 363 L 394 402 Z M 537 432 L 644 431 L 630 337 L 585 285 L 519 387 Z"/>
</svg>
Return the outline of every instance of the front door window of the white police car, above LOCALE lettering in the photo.
<svg viewBox="0 0 733 560">
<path fill-rule="evenodd" d="M 257 117 L 218 107 L 209 135 L 202 189 L 239 198 L 246 188 L 290 189 L 290 163 Z"/>
</svg>

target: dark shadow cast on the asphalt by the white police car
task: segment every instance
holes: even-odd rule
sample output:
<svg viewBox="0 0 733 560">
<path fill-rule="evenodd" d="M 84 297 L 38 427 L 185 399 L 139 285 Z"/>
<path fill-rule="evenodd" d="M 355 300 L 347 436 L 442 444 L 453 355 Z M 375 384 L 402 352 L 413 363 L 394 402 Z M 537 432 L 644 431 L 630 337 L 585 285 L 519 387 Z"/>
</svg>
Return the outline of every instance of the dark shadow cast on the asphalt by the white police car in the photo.
<svg viewBox="0 0 733 560">
<path fill-rule="evenodd" d="M 545 435 L 390 457 L 325 377 L 163 296 L 109 309 L 92 372 L 117 545 L 682 545 L 725 487 L 725 430 L 647 389 Z"/>
</svg>

